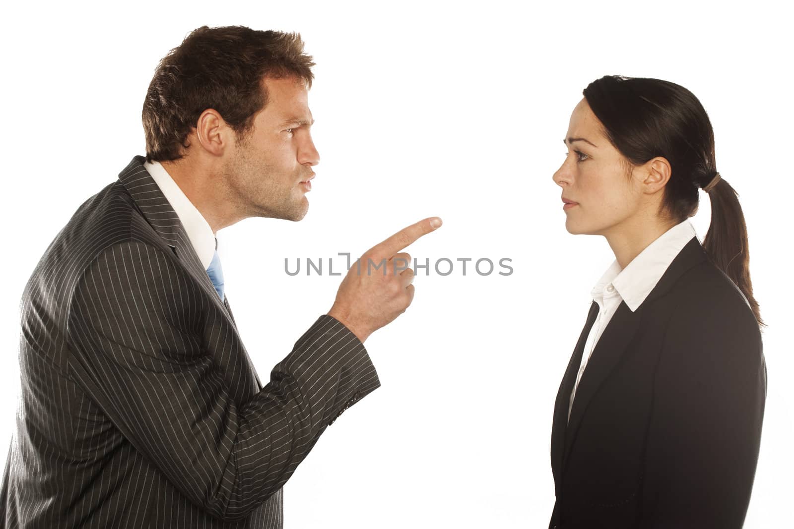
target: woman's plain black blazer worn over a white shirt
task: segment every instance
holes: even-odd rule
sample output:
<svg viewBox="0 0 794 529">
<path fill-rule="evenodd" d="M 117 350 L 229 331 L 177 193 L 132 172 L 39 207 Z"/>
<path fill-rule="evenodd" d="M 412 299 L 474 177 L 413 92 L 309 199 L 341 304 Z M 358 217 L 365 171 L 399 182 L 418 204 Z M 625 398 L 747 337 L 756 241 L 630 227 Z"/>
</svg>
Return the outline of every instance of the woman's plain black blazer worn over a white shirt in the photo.
<svg viewBox="0 0 794 529">
<path fill-rule="evenodd" d="M 742 527 L 766 398 L 761 333 L 741 291 L 692 237 L 635 312 L 622 302 L 551 437 L 549 527 Z"/>
</svg>

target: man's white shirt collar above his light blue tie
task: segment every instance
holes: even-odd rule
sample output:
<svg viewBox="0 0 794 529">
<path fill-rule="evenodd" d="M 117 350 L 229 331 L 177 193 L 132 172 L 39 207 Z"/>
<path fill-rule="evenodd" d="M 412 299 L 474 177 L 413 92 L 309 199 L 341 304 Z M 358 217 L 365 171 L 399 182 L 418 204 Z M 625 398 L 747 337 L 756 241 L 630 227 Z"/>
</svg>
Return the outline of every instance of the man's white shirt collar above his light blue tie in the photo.
<svg viewBox="0 0 794 529">
<path fill-rule="evenodd" d="M 218 246 L 218 241 L 215 239 L 215 234 L 210 228 L 210 224 L 202 216 L 201 212 L 196 209 L 193 202 L 183 193 L 179 186 L 176 185 L 174 179 L 165 170 L 160 162 L 144 163 L 144 167 L 148 174 L 160 187 L 165 199 L 171 204 L 176 216 L 182 223 L 187 232 L 187 238 L 191 240 L 193 249 L 198 255 L 198 260 L 201 261 L 202 266 L 206 269 L 212 263 L 212 258 L 215 255 L 215 249 Z"/>
</svg>

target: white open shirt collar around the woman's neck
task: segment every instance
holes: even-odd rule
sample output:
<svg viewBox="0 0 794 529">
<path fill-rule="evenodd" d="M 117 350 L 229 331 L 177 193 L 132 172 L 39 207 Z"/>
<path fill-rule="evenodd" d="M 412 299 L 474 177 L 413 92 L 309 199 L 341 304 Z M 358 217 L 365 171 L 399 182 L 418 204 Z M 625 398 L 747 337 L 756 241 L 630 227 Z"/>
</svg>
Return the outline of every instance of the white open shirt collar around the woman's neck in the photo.
<svg viewBox="0 0 794 529">
<path fill-rule="evenodd" d="M 673 263 L 673 259 L 676 259 L 676 255 L 694 236 L 696 236 L 695 227 L 689 219 L 685 219 L 657 237 L 632 259 L 626 268 L 621 270 L 615 259 L 595 283 L 591 291 L 593 299 L 603 299 L 604 292 L 609 293 L 608 289 L 611 285 L 631 312 L 634 312 L 665 274 L 665 270 L 670 263 Z"/>
</svg>

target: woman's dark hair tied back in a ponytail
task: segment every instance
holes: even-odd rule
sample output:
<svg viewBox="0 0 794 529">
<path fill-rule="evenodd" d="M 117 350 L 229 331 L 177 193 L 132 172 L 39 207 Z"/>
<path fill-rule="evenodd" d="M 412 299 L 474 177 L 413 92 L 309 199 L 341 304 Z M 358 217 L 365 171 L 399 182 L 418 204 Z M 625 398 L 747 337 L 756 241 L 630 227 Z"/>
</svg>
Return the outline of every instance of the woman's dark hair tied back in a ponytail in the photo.
<svg viewBox="0 0 794 529">
<path fill-rule="evenodd" d="M 642 165 L 656 156 L 670 163 L 660 214 L 680 223 L 697 213 L 698 190 L 711 182 L 717 167 L 711 121 L 695 95 L 661 79 L 605 75 L 584 89 L 584 98 L 607 139 L 630 163 Z M 708 196 L 711 224 L 703 249 L 742 291 L 764 327 L 750 282 L 747 227 L 738 194 L 720 178 Z"/>
</svg>

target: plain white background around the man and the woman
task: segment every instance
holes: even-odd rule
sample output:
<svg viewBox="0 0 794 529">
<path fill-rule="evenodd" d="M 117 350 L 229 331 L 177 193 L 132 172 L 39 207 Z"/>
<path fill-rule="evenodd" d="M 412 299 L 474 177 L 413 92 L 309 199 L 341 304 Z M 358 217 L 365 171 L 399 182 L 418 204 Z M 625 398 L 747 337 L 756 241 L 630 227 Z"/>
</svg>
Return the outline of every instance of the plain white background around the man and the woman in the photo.
<svg viewBox="0 0 794 529">
<path fill-rule="evenodd" d="M 552 174 L 581 90 L 668 79 L 703 103 L 717 168 L 740 194 L 769 393 L 746 527 L 781 527 L 792 475 L 792 41 L 783 2 L 74 2 L 4 8 L 0 465 L 18 397 L 18 303 L 87 197 L 144 154 L 141 105 L 161 56 L 199 25 L 298 31 L 314 56 L 322 156 L 299 223 L 219 232 L 226 293 L 260 377 L 330 309 L 340 278 L 283 259 L 353 255 L 438 215 L 421 259 L 512 259 L 422 274 L 366 347 L 383 386 L 345 412 L 285 487 L 288 529 L 545 527 L 554 398 L 614 256 L 565 231 Z M 707 195 L 692 222 L 701 240 Z M 338 263 L 334 263 L 339 270 Z M 327 263 L 326 263 L 327 266 Z M 0 466 L 2 468 L 2 466 Z"/>
</svg>

